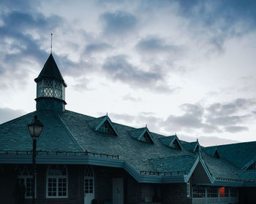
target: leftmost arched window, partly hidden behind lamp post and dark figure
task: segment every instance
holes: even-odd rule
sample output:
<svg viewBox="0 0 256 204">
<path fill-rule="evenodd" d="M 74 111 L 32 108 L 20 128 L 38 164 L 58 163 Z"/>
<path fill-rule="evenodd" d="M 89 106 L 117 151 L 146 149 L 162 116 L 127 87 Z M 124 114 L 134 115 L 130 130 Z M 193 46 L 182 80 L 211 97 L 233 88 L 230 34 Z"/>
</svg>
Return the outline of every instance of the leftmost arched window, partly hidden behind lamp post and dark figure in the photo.
<svg viewBox="0 0 256 204">
<path fill-rule="evenodd" d="M 33 196 L 33 171 L 31 165 L 19 165 L 17 168 L 18 181 L 23 183 L 26 187 L 26 198 Z M 35 178 L 37 181 L 37 179 Z M 37 197 L 37 183 L 35 188 L 35 197 Z"/>
</svg>

